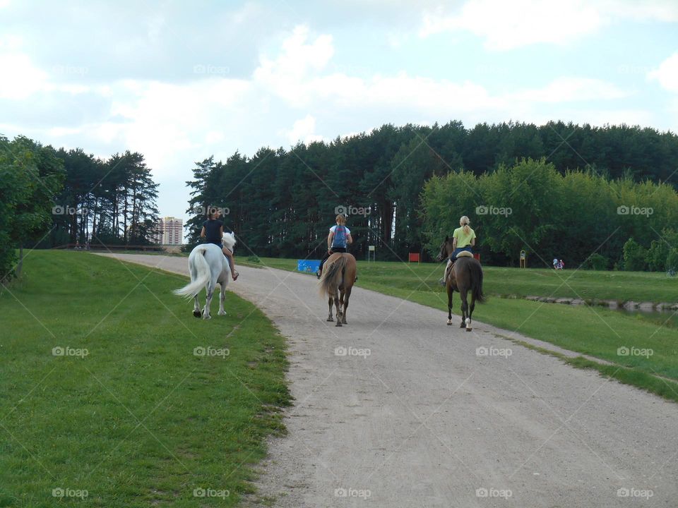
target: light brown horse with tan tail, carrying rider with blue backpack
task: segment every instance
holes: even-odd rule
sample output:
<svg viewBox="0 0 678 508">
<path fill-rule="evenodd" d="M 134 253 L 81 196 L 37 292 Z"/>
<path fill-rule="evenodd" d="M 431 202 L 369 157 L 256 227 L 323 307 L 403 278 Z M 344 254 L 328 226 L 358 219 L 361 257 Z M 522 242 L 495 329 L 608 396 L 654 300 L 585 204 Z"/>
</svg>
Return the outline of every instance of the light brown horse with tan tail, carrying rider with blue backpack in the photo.
<svg viewBox="0 0 678 508">
<path fill-rule="evenodd" d="M 328 306 L 330 310 L 327 316 L 328 321 L 333 321 L 332 303 L 337 308 L 337 324 L 335 326 L 347 324 L 346 310 L 348 308 L 348 299 L 351 296 L 351 289 L 353 289 L 353 284 L 355 283 L 355 275 L 355 258 L 349 253 L 334 253 L 323 265 L 320 291 L 321 296 L 329 296 Z"/>
</svg>

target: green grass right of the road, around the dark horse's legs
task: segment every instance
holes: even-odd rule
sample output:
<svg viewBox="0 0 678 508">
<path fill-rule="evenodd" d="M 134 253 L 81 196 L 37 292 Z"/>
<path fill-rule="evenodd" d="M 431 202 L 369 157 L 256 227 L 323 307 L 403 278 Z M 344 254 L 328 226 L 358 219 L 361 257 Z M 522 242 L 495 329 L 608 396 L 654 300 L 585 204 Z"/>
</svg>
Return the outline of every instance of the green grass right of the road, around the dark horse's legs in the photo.
<svg viewBox="0 0 678 508">
<path fill-rule="evenodd" d="M 259 265 L 296 270 L 297 261 L 262 258 Z M 442 265 L 432 263 L 405 265 L 397 262 L 358 262 L 357 285 L 440 309 L 443 323 L 447 318 L 447 295 L 437 283 L 441 274 Z M 571 279 L 564 284 L 570 276 Z M 514 286 L 520 289 L 507 291 Z M 656 291 L 654 288 L 657 288 Z M 601 307 L 496 297 L 513 294 L 675 302 L 678 301 L 678 279 L 641 272 L 574 273 L 484 267 L 484 291 L 489 294 L 489 301 L 476 306 L 475 319 L 631 368 L 629 372 L 615 372 L 613 369 L 607 375 L 614 373 L 614 377 L 624 382 L 678 401 L 678 385 L 663 381 L 657 383 L 651 377 L 660 375 L 678 380 L 676 313 L 622 313 Z M 653 295 L 655 298 L 650 298 Z M 455 294 L 453 305 L 458 323 L 458 294 Z M 653 354 L 620 356 L 618 349 L 623 347 L 629 350 L 651 349 Z M 578 361 L 575 364 L 582 366 L 585 362 Z"/>
</svg>

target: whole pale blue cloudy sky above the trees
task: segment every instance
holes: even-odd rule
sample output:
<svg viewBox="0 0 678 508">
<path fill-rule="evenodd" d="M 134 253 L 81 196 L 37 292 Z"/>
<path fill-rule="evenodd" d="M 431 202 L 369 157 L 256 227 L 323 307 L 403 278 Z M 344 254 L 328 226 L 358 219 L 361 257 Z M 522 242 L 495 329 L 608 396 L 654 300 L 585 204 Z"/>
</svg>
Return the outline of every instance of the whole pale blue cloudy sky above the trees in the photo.
<svg viewBox="0 0 678 508">
<path fill-rule="evenodd" d="M 194 162 L 383 123 L 678 131 L 678 0 L 0 0 L 0 133 Z"/>
</svg>

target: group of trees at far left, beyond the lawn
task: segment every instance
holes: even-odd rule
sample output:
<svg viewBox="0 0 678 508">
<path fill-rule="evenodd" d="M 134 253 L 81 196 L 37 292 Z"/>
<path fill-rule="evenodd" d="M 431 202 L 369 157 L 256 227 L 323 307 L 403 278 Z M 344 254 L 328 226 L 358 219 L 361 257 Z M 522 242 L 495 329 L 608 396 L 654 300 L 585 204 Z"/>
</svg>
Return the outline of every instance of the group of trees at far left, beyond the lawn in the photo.
<svg viewBox="0 0 678 508">
<path fill-rule="evenodd" d="M 150 243 L 156 198 L 138 152 L 101 159 L 0 135 L 0 282 L 20 273 L 25 247 Z"/>
</svg>

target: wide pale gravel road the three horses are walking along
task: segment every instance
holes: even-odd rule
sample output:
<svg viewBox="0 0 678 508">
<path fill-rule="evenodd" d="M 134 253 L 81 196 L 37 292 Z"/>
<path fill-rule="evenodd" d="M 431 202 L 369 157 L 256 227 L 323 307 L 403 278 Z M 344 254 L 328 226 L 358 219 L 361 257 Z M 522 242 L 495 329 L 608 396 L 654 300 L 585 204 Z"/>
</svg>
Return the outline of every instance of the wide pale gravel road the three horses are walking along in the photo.
<svg viewBox="0 0 678 508">
<path fill-rule="evenodd" d="M 186 258 L 117 257 L 188 271 Z M 260 480 L 274 506 L 678 506 L 678 405 L 360 288 L 335 328 L 314 277 L 239 271 L 229 289 L 290 346 L 289 435 Z"/>
</svg>

